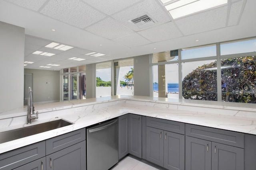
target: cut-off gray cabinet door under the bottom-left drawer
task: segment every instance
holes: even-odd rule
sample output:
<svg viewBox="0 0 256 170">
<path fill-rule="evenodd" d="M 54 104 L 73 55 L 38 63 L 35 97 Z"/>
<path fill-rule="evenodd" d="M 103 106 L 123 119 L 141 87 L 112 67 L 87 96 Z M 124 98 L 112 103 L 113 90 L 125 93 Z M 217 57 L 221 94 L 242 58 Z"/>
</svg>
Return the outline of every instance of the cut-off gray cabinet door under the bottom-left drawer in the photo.
<svg viewBox="0 0 256 170">
<path fill-rule="evenodd" d="M 14 170 L 46 170 L 46 159 L 41 158 L 28 164 L 15 168 Z"/>
</svg>

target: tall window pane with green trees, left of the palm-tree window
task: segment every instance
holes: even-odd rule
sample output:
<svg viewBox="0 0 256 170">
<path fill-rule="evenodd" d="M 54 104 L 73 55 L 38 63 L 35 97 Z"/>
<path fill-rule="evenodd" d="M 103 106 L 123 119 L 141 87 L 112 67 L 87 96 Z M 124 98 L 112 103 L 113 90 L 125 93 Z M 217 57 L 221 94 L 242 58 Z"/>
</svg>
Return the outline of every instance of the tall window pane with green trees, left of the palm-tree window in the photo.
<svg viewBox="0 0 256 170">
<path fill-rule="evenodd" d="M 96 64 L 96 98 L 111 96 L 111 62 Z"/>
</svg>

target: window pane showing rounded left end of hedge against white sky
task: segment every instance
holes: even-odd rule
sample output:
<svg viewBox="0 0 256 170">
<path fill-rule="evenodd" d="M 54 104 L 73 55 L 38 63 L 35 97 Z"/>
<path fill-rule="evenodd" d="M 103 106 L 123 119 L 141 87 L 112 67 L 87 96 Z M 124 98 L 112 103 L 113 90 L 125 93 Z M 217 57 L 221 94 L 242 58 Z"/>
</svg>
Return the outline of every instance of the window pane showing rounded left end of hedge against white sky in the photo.
<svg viewBox="0 0 256 170">
<path fill-rule="evenodd" d="M 185 99 L 217 100 L 216 60 L 182 63 L 182 96 Z"/>
</svg>

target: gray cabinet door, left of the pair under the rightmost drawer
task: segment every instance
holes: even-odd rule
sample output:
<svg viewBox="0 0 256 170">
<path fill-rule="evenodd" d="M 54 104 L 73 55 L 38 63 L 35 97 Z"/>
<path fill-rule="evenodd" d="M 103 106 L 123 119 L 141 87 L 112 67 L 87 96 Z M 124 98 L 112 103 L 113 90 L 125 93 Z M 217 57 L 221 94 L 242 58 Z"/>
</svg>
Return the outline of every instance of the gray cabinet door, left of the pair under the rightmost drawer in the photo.
<svg viewBox="0 0 256 170">
<path fill-rule="evenodd" d="M 186 136 L 186 170 L 211 170 L 211 145 L 211 141 Z"/>
</svg>

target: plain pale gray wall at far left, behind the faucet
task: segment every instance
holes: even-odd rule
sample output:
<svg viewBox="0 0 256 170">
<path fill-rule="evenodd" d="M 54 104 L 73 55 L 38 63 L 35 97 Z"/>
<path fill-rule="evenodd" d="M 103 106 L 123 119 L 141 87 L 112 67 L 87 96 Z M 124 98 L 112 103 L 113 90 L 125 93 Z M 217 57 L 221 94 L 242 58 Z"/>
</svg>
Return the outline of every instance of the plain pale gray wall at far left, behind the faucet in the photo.
<svg viewBox="0 0 256 170">
<path fill-rule="evenodd" d="M 23 107 L 24 41 L 24 28 L 0 21 L 0 112 Z"/>
</svg>

